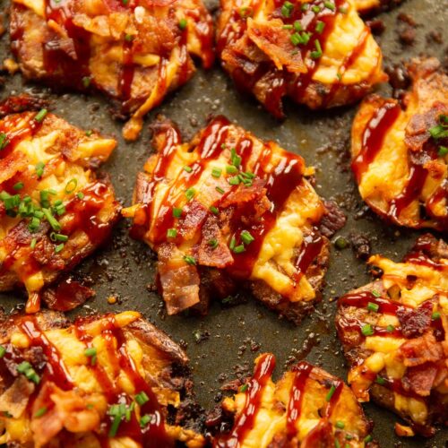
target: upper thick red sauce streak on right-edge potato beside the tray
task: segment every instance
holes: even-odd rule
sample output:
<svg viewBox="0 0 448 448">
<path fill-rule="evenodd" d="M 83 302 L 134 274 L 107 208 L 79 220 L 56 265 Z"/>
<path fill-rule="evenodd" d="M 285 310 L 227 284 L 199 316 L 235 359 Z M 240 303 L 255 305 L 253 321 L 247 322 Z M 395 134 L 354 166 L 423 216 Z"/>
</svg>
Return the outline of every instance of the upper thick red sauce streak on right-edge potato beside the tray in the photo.
<svg viewBox="0 0 448 448">
<path fill-rule="evenodd" d="M 384 138 L 400 115 L 401 108 L 396 102 L 388 101 L 375 111 L 362 135 L 361 150 L 352 161 L 351 169 L 358 183 L 368 166 L 381 150 Z"/>
</svg>

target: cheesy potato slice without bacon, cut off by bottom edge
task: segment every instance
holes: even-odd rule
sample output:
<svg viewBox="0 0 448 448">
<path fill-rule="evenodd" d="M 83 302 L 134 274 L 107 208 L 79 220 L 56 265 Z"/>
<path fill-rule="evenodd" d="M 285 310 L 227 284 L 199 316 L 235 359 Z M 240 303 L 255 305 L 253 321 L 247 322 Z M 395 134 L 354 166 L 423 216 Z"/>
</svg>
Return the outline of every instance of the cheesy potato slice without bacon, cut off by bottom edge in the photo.
<svg viewBox="0 0 448 448">
<path fill-rule="evenodd" d="M 228 432 L 215 435 L 213 446 L 376 445 L 363 410 L 340 379 L 302 361 L 274 383 L 274 366 L 271 354 L 261 355 L 255 360 L 254 376 L 222 402 L 233 424 Z"/>
</svg>

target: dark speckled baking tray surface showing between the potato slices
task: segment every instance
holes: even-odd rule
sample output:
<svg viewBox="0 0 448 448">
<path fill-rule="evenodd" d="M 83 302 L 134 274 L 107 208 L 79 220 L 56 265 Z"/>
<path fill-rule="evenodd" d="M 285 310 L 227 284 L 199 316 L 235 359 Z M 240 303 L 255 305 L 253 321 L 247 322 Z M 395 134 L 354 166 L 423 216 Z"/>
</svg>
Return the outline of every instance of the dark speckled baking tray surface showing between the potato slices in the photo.
<svg viewBox="0 0 448 448">
<path fill-rule="evenodd" d="M 0 0 L 4 25 L 7 23 L 8 4 L 8 0 Z M 217 2 L 206 4 L 216 12 Z M 411 45 L 401 43 L 400 33 L 409 27 L 406 23 L 408 17 L 403 14 L 416 22 L 413 27 L 416 36 Z M 376 37 L 383 49 L 384 65 L 398 64 L 419 55 L 437 56 L 447 64 L 447 0 L 407 0 L 392 12 L 379 14 L 375 19 L 381 19 L 385 25 L 383 34 Z M 0 40 L 0 60 L 7 56 L 10 56 L 9 37 L 5 33 Z M 388 85 L 379 90 L 384 94 L 391 93 Z M 119 200 L 130 204 L 136 174 L 152 151 L 148 126 L 145 125 L 140 140 L 126 143 L 121 138 L 122 124 L 109 115 L 110 103 L 106 99 L 76 93 L 57 95 L 37 84 L 22 82 L 20 73 L 5 77 L 0 97 L 23 91 L 50 99 L 52 110 L 73 125 L 96 128 L 104 134 L 116 136 L 119 142 L 117 149 L 103 169 L 110 174 Z M 356 110 L 357 107 L 349 107 L 311 112 L 287 102 L 285 111 L 288 117 L 279 122 L 253 99 L 240 96 L 226 73 L 216 64 L 208 72 L 199 69 L 191 82 L 170 95 L 161 107 L 147 116 L 146 123 L 150 123 L 157 114 L 163 114 L 177 122 L 184 138 L 189 139 L 205 124 L 208 116 L 222 114 L 258 137 L 279 142 L 283 148 L 302 155 L 308 165 L 314 165 L 317 192 L 338 202 L 347 214 L 347 225 L 338 235 L 368 237 L 373 253 L 399 260 L 412 246 L 418 232 L 385 224 L 361 202 L 349 171 L 348 157 L 350 124 Z M 168 317 L 153 288 L 156 258 L 147 246 L 128 236 L 128 227 L 129 223 L 122 220 L 108 245 L 77 269 L 80 275 L 90 280 L 97 294 L 70 314 L 125 309 L 142 312 L 186 349 L 193 368 L 197 398 L 204 409 L 211 409 L 220 401 L 223 383 L 252 372 L 254 358 L 263 351 L 275 354 L 277 376 L 285 366 L 306 358 L 334 375 L 347 378 L 347 365 L 333 323 L 334 297 L 370 280 L 366 263 L 358 260 L 353 250 L 338 251 L 332 247 L 323 301 L 298 326 L 280 320 L 277 314 L 248 296 L 238 297 L 241 303 L 235 306 L 212 304 L 205 317 Z M 110 296 L 117 297 L 115 305 L 108 304 Z M 6 310 L 24 304 L 24 300 L 20 293 L 0 294 L 0 304 Z M 367 416 L 375 421 L 374 435 L 383 447 L 448 446 L 446 429 L 441 429 L 432 439 L 399 438 L 393 431 L 397 417 L 374 404 L 366 404 L 365 409 Z"/>
</svg>

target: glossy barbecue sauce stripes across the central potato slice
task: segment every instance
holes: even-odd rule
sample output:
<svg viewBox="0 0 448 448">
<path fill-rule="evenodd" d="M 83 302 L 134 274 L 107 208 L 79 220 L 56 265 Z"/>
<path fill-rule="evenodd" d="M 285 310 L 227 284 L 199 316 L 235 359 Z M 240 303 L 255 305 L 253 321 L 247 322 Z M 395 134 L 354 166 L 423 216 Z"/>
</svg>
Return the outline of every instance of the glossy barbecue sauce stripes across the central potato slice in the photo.
<svg viewBox="0 0 448 448">
<path fill-rule="evenodd" d="M 155 245 L 164 243 L 167 240 L 168 228 L 176 228 L 177 220 L 173 216 L 173 208 L 177 207 L 179 202 L 184 202 L 185 190 L 195 185 L 202 176 L 204 168 L 213 159 L 218 159 L 223 147 L 228 139 L 229 122 L 223 116 L 216 117 L 207 128 L 202 132 L 199 142 L 197 142 L 194 151 L 198 153 L 198 159 L 191 165 L 191 172 L 182 169 L 174 183 L 170 186 L 163 199 L 160 201 L 159 210 L 154 210 L 154 193 L 157 184 L 168 175 L 169 165 L 177 151 L 177 145 L 181 143 L 181 137 L 177 128 L 173 125 L 162 125 L 160 132 L 156 127 L 156 141 L 160 139 L 159 154 L 156 167 L 151 173 L 151 179 L 145 185 L 145 192 L 142 195 L 142 206 L 136 212 L 134 217 L 134 226 L 132 228 L 133 237 L 142 237 L 150 229 L 151 242 Z M 223 146 L 224 145 L 224 146 Z M 239 136 L 235 150 L 241 157 L 241 170 L 247 171 L 248 162 L 251 157 L 253 142 L 245 135 Z M 238 279 L 247 279 L 252 274 L 254 263 L 260 253 L 263 245 L 263 239 L 274 226 L 278 213 L 281 211 L 289 195 L 298 185 L 303 183 L 303 159 L 295 154 L 284 152 L 280 163 L 266 174 L 265 170 L 271 161 L 272 149 L 270 143 L 266 143 L 259 159 L 254 164 L 255 178 L 263 178 L 266 196 L 271 202 L 271 208 L 263 213 L 260 220 L 250 225 L 245 224 L 241 216 L 252 216 L 254 214 L 253 202 L 248 202 L 245 207 L 241 207 L 235 215 L 231 233 L 239 238 L 242 230 L 248 230 L 254 237 L 254 241 L 246 246 L 245 252 L 233 254 L 234 263 L 228 266 L 227 271 Z M 228 191 L 222 194 L 220 199 L 213 205 L 220 209 L 220 203 L 225 201 L 228 194 L 234 192 L 239 186 L 228 185 Z M 173 193 L 174 192 L 174 193 Z M 178 193 L 180 192 L 180 193 Z M 176 243 L 182 241 L 182 223 L 188 219 L 190 213 L 198 212 L 198 203 L 194 201 L 187 202 L 184 207 L 182 218 L 179 220 L 179 232 L 173 240 Z M 201 209 L 202 206 L 199 206 Z M 201 228 L 211 211 L 202 210 L 202 217 L 197 222 L 197 227 Z M 157 213 L 157 218 L 155 217 Z M 138 223 L 135 223 L 138 221 Z M 153 225 L 151 223 L 154 222 Z M 315 257 L 321 252 L 323 247 L 323 237 L 317 229 L 304 237 L 304 242 L 297 255 L 297 274 L 294 278 L 296 284 L 300 278 L 306 274 L 306 270 L 313 263 Z M 239 244 L 239 242 L 237 243 Z"/>
</svg>

